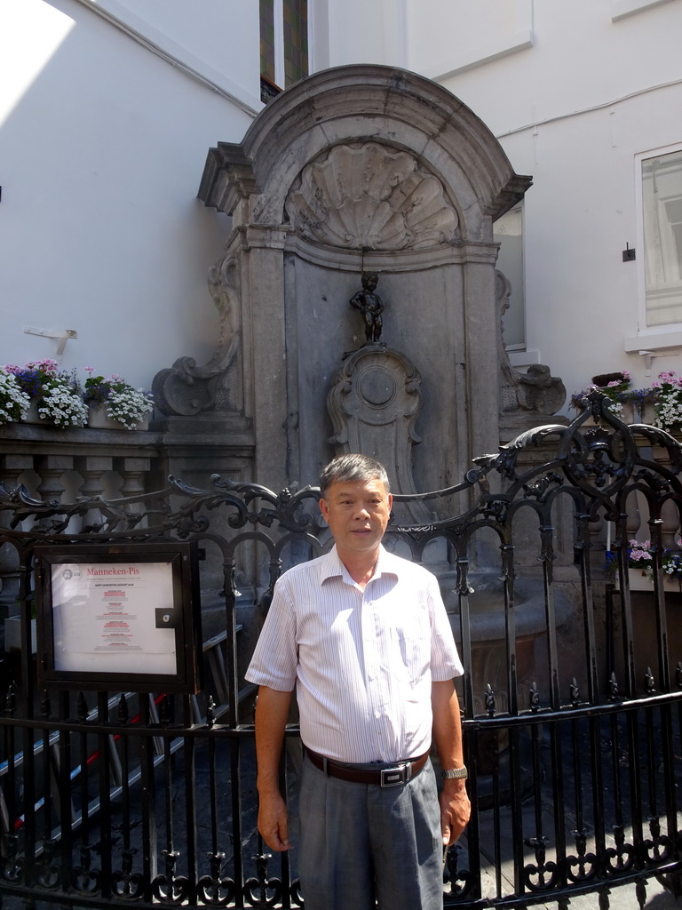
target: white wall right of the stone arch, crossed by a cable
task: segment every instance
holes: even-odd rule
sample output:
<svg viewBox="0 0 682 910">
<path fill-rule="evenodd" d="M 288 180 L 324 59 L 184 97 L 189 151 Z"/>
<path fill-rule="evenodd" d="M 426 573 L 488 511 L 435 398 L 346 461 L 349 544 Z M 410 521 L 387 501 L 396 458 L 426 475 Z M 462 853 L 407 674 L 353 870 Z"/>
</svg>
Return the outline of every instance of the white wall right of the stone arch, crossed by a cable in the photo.
<svg viewBox="0 0 682 910">
<path fill-rule="evenodd" d="M 500 6 L 476 5 L 478 25 L 491 4 Z M 501 5 L 507 15 L 488 22 L 487 48 L 472 34 L 466 0 L 433 0 L 428 15 L 411 5 L 410 65 L 459 96 L 498 136 L 517 173 L 534 177 L 525 210 L 528 349 L 569 393 L 617 369 L 629 369 L 637 386 L 650 385 L 662 369 L 682 372 L 682 357 L 679 349 L 657 349 L 646 376 L 644 359 L 625 350 L 625 339 L 637 336 L 644 263 L 635 157 L 682 143 L 682 2 L 536 0 L 531 40 L 522 46 L 529 5 Z M 623 12 L 633 15 L 617 17 Z M 439 23 L 431 45 L 429 21 Z M 452 63 L 440 56 L 450 39 Z M 483 57 L 505 42 L 506 54 L 472 64 L 472 47 L 480 44 Z M 457 62 L 466 68 L 451 72 Z M 622 261 L 627 244 L 639 247 L 634 263 Z"/>
</svg>

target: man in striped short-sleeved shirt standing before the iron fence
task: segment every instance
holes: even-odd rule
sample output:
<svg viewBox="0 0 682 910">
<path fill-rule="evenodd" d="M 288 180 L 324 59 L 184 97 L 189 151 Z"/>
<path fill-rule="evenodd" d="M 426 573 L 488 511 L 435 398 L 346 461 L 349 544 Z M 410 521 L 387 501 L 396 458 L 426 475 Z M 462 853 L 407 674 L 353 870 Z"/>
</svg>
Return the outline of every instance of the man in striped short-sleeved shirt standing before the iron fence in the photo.
<svg viewBox="0 0 682 910">
<path fill-rule="evenodd" d="M 291 846 L 277 770 L 296 686 L 306 910 L 442 910 L 443 846 L 470 813 L 452 682 L 462 664 L 436 578 L 381 544 L 384 467 L 342 455 L 320 480 L 335 547 L 277 581 L 246 673 L 260 687 L 258 829 L 273 850 Z"/>
</svg>

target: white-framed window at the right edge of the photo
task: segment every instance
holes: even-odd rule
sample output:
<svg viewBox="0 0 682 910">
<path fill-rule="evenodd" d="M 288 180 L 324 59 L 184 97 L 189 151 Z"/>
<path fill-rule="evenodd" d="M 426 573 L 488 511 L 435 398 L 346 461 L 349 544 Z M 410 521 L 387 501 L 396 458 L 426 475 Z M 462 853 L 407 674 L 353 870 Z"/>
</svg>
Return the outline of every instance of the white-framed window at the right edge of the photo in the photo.
<svg viewBox="0 0 682 910">
<path fill-rule="evenodd" d="M 682 149 L 642 159 L 646 325 L 682 323 Z"/>
</svg>

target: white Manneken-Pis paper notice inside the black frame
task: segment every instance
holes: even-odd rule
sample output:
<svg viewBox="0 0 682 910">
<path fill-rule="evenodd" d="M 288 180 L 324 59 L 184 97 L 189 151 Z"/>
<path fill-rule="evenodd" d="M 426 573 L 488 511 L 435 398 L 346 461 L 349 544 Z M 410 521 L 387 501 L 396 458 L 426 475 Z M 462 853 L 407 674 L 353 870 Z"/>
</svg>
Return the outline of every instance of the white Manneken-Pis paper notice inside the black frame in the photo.
<svg viewBox="0 0 682 910">
<path fill-rule="evenodd" d="M 170 562 L 52 566 L 55 670 L 175 674 L 176 632 L 156 628 L 171 612 Z"/>
</svg>

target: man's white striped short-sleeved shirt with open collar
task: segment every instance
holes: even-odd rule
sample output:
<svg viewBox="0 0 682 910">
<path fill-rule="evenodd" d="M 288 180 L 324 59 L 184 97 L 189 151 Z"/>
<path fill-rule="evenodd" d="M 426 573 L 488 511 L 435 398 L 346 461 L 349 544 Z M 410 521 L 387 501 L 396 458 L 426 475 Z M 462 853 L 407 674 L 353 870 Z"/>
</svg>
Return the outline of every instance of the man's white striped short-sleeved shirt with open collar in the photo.
<svg viewBox="0 0 682 910">
<path fill-rule="evenodd" d="M 431 572 L 382 547 L 363 592 L 335 547 L 276 582 L 246 679 L 296 686 L 306 746 L 366 763 L 425 753 L 431 682 L 462 672 Z"/>
</svg>

